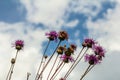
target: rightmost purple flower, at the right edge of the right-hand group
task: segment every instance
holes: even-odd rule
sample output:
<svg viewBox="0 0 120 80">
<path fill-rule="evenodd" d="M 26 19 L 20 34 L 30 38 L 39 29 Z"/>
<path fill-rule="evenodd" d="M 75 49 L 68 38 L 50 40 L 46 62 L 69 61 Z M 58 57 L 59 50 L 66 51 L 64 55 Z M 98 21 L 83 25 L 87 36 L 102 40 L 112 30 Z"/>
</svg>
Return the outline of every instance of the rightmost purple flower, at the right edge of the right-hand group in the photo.
<svg viewBox="0 0 120 80">
<path fill-rule="evenodd" d="M 105 56 L 105 50 L 102 48 L 102 46 L 93 46 L 93 51 L 95 52 L 96 55 L 99 55 L 101 57 Z"/>
</svg>

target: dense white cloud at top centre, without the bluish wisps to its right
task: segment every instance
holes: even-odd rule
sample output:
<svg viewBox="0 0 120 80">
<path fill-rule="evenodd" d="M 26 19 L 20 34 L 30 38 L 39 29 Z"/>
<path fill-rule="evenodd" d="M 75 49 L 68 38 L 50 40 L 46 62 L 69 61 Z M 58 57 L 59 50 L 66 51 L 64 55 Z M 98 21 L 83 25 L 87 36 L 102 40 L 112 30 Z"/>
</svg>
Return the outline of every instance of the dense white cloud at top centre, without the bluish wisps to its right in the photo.
<svg viewBox="0 0 120 80">
<path fill-rule="evenodd" d="M 27 10 L 26 19 L 49 27 L 60 27 L 69 0 L 20 0 Z"/>
</svg>

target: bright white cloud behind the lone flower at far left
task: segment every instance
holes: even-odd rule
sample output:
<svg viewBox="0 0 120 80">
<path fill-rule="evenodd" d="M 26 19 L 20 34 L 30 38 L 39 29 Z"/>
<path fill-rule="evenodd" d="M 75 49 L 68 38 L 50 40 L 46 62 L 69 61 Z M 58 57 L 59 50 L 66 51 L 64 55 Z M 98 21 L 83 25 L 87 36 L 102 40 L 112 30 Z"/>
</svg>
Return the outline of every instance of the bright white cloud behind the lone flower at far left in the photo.
<svg viewBox="0 0 120 80">
<path fill-rule="evenodd" d="M 36 64 L 41 56 L 39 51 L 42 51 L 42 43 L 46 41 L 44 36 L 46 30 L 33 29 L 25 23 L 8 24 L 4 22 L 0 22 L 0 28 L 0 62 L 2 64 L 0 79 L 6 78 L 10 59 L 15 56 L 16 51 L 11 44 L 16 39 L 23 39 L 25 48 L 18 55 L 13 80 L 25 79 L 28 71 L 35 73 Z"/>
</svg>

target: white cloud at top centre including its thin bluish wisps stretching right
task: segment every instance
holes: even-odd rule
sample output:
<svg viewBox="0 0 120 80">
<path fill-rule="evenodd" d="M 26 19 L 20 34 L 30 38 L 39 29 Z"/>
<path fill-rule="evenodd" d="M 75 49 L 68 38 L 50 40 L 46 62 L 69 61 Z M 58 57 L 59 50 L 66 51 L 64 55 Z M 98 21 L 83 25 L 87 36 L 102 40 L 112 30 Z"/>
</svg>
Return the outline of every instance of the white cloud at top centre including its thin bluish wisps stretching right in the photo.
<svg viewBox="0 0 120 80">
<path fill-rule="evenodd" d="M 48 28 L 61 28 L 70 24 L 70 13 L 96 16 L 106 0 L 20 0 L 27 11 L 26 20 L 32 23 L 42 23 Z M 71 26 L 66 26 L 71 27 Z"/>
</svg>

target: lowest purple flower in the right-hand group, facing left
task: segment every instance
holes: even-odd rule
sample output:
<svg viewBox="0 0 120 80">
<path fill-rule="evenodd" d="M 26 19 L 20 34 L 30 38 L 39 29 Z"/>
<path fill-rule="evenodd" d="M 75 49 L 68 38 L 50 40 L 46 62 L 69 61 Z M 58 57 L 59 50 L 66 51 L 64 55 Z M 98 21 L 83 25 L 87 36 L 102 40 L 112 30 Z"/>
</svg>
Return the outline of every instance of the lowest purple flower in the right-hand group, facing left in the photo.
<svg viewBox="0 0 120 80">
<path fill-rule="evenodd" d="M 85 61 L 88 62 L 90 65 L 95 65 L 95 64 L 100 63 L 100 60 L 98 59 L 98 57 L 93 54 L 91 54 L 91 55 L 86 54 Z"/>
</svg>

